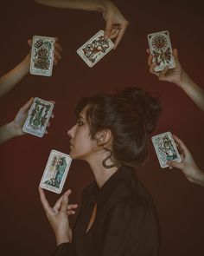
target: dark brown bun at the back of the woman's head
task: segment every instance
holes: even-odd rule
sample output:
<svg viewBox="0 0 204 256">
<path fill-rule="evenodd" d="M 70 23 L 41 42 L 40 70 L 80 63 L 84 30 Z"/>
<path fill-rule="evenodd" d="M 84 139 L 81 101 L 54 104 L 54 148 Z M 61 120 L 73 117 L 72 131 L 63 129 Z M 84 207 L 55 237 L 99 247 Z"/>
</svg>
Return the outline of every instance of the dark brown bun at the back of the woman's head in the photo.
<svg viewBox="0 0 204 256">
<path fill-rule="evenodd" d="M 150 135 L 156 128 L 156 121 L 162 111 L 158 96 L 150 95 L 137 87 L 126 88 L 119 96 L 128 102 L 132 111 L 137 112 L 146 132 Z"/>
</svg>

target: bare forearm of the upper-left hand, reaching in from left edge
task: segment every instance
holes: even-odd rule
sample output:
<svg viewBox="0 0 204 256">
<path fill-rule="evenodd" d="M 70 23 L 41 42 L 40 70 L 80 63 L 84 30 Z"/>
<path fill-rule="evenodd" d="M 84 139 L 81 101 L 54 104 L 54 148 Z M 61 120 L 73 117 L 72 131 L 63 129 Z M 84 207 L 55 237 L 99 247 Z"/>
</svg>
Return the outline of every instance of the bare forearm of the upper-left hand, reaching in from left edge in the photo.
<svg viewBox="0 0 204 256">
<path fill-rule="evenodd" d="M 26 57 L 16 68 L 10 70 L 0 78 L 0 96 L 5 95 L 12 89 L 17 82 L 29 73 L 29 60 Z"/>
</svg>

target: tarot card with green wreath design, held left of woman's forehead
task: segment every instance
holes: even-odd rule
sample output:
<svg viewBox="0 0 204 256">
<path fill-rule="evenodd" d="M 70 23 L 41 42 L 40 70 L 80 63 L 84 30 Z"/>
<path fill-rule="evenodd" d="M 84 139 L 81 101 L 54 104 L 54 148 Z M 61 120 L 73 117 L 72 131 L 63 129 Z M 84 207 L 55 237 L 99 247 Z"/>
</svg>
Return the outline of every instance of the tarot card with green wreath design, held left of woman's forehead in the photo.
<svg viewBox="0 0 204 256">
<path fill-rule="evenodd" d="M 42 137 L 52 114 L 54 104 L 35 97 L 29 108 L 29 114 L 22 127 L 22 131 L 31 135 Z"/>
</svg>

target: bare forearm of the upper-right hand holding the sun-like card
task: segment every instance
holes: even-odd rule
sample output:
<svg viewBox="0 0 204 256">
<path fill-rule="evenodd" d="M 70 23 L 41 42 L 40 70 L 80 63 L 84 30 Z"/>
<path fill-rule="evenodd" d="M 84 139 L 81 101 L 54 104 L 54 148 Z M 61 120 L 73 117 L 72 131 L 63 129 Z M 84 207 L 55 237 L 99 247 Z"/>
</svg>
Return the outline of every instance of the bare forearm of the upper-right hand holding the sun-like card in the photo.
<svg viewBox="0 0 204 256">
<path fill-rule="evenodd" d="M 183 89 L 202 111 L 204 111 L 204 90 L 194 83 L 185 72 L 182 75 L 181 82 L 177 85 Z"/>
</svg>

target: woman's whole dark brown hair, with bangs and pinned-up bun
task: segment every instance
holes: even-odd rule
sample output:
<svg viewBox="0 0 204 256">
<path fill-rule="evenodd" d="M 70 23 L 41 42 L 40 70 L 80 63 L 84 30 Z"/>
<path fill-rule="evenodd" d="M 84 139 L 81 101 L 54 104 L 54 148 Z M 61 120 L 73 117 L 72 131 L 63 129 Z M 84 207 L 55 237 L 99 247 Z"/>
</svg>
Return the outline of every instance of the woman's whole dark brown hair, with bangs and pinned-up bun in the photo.
<svg viewBox="0 0 204 256">
<path fill-rule="evenodd" d="M 157 97 L 136 87 L 126 88 L 117 95 L 102 93 L 82 98 L 76 115 L 86 106 L 91 138 L 95 139 L 103 129 L 110 129 L 116 164 L 141 165 L 148 154 L 149 135 L 156 128 L 162 110 Z"/>
</svg>

